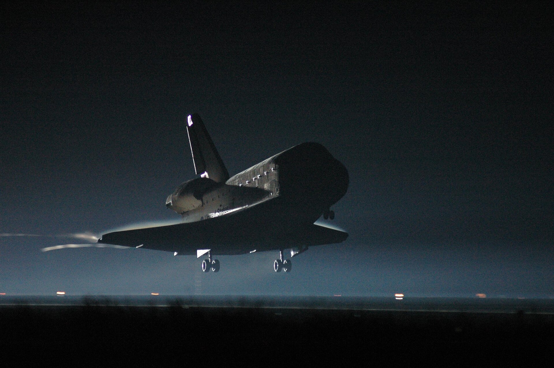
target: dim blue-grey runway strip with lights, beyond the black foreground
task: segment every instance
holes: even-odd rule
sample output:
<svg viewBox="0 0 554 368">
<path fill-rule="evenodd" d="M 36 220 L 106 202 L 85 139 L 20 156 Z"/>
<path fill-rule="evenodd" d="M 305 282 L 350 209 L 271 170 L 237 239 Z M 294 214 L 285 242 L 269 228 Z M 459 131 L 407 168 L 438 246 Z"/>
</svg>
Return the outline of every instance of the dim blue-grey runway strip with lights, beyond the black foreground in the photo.
<svg viewBox="0 0 554 368">
<path fill-rule="evenodd" d="M 8 296 L 2 306 L 119 306 L 183 308 L 329 309 L 388 312 L 554 314 L 552 298 L 349 297 L 349 296 Z"/>
</svg>

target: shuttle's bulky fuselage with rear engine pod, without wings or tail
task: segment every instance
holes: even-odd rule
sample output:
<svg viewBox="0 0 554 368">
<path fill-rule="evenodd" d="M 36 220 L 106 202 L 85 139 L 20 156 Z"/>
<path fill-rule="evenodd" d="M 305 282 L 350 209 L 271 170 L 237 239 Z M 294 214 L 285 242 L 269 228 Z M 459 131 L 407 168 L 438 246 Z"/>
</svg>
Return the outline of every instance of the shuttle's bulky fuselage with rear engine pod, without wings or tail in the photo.
<svg viewBox="0 0 554 368">
<path fill-rule="evenodd" d="M 166 206 L 194 222 L 232 214 L 280 198 L 293 222 L 312 224 L 346 193 L 348 172 L 319 143 L 302 143 L 217 183 L 209 177 L 188 180 L 167 197 Z M 279 219 L 281 221 L 285 219 Z M 288 221 L 286 221 L 288 222 Z"/>
</svg>

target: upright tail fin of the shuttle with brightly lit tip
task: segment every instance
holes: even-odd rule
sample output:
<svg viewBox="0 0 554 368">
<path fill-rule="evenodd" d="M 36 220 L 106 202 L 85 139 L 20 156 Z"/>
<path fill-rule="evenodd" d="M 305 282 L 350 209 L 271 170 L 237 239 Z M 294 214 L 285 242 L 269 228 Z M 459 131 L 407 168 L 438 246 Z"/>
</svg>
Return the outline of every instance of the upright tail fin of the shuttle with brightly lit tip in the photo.
<svg viewBox="0 0 554 368">
<path fill-rule="evenodd" d="M 187 133 L 196 174 L 217 183 L 225 183 L 229 179 L 229 173 L 198 114 L 188 116 Z"/>
</svg>

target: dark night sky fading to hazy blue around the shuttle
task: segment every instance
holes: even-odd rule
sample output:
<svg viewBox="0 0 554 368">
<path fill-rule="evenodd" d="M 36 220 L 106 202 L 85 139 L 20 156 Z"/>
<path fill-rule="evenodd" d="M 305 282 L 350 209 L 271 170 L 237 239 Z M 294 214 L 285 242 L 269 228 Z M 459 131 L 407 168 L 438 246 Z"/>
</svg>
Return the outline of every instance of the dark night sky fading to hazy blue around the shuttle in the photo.
<svg viewBox="0 0 554 368">
<path fill-rule="evenodd" d="M 553 10 L 1 5 L 0 293 L 554 297 Z M 194 112 L 231 175 L 327 147 L 348 239 L 289 274 L 273 252 L 203 274 L 168 252 L 41 251 L 178 221 Z"/>
</svg>

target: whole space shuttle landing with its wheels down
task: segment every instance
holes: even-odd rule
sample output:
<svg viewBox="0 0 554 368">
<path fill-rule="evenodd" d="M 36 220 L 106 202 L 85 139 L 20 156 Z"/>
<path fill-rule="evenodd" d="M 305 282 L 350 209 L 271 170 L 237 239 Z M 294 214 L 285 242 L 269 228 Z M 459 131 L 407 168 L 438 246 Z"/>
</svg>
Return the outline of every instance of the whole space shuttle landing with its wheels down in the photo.
<svg viewBox="0 0 554 368">
<path fill-rule="evenodd" d="M 218 255 L 275 251 L 274 271 L 290 272 L 291 258 L 309 247 L 346 240 L 314 224 L 335 218 L 332 205 L 348 189 L 347 169 L 324 146 L 301 143 L 229 177 L 202 118 L 189 115 L 184 125 L 197 177 L 166 199 L 181 223 L 114 231 L 99 243 L 204 256 L 204 272 L 219 272 Z"/>
</svg>

